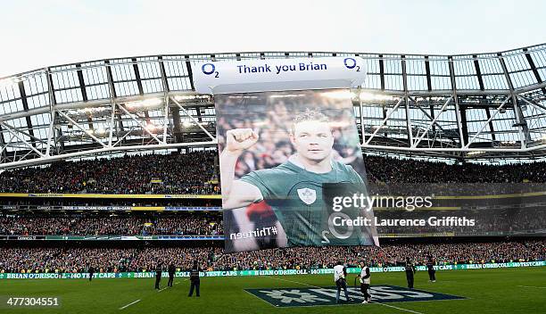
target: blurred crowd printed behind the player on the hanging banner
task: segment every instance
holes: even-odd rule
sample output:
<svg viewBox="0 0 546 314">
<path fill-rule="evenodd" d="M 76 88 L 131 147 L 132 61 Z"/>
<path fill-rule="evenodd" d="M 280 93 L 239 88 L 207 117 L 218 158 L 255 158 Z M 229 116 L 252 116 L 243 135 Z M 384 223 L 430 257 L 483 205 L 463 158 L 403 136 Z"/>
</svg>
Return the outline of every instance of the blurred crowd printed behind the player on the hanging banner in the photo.
<svg viewBox="0 0 546 314">
<path fill-rule="evenodd" d="M 294 112 L 316 109 L 321 103 L 320 112 L 329 118 L 335 138 L 334 159 L 365 175 L 359 134 L 346 93 L 349 92 L 331 90 L 216 95 L 219 152 L 224 150 L 227 130 L 252 128 L 258 131 L 260 140 L 237 162 L 236 178 L 253 170 L 276 167 L 295 153 L 288 139 Z"/>
</svg>

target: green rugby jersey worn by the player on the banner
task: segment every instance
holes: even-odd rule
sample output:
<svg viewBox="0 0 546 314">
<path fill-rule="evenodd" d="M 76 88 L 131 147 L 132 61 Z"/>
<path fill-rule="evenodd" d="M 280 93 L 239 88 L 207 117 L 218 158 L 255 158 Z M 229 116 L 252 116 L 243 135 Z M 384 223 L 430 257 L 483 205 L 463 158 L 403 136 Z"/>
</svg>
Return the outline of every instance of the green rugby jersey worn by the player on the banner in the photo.
<svg viewBox="0 0 546 314">
<path fill-rule="evenodd" d="M 286 161 L 272 169 L 252 171 L 241 180 L 260 189 L 285 229 L 288 246 L 373 244 L 371 234 L 360 227 L 354 227 L 352 236 L 343 239 L 327 232 L 328 217 L 333 211 L 324 199 L 323 184 L 352 183 L 358 186 L 358 193 L 368 195 L 362 178 L 349 165 L 332 161 L 331 171 L 314 173 Z M 355 219 L 359 210 L 348 209 L 343 213 Z"/>
</svg>

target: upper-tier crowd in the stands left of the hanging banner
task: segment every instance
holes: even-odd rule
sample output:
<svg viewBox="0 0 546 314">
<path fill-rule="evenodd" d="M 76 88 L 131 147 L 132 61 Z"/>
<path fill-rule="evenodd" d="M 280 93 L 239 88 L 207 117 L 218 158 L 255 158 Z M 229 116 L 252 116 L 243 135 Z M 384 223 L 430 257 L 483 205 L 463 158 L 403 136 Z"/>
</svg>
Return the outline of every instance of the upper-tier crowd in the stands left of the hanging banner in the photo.
<svg viewBox="0 0 546 314">
<path fill-rule="evenodd" d="M 218 194 L 214 152 L 59 161 L 0 173 L 11 193 Z"/>
</svg>

